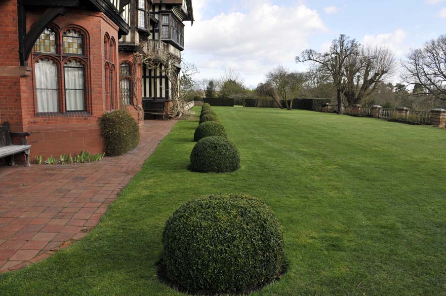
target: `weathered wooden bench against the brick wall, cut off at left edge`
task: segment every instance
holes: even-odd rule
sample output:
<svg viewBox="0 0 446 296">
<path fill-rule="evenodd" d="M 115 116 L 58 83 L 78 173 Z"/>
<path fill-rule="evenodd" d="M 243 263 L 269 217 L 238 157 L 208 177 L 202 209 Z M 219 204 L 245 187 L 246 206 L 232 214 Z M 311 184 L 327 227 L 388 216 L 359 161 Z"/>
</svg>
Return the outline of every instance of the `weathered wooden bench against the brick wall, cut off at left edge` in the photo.
<svg viewBox="0 0 446 296">
<path fill-rule="evenodd" d="M 30 166 L 30 148 L 26 137 L 29 133 L 13 133 L 9 128 L 9 123 L 5 122 L 0 126 L 0 158 L 9 157 L 9 165 L 15 165 L 14 155 L 24 153 L 26 157 L 26 166 Z M 12 144 L 12 137 L 21 137 L 22 145 Z"/>
</svg>

